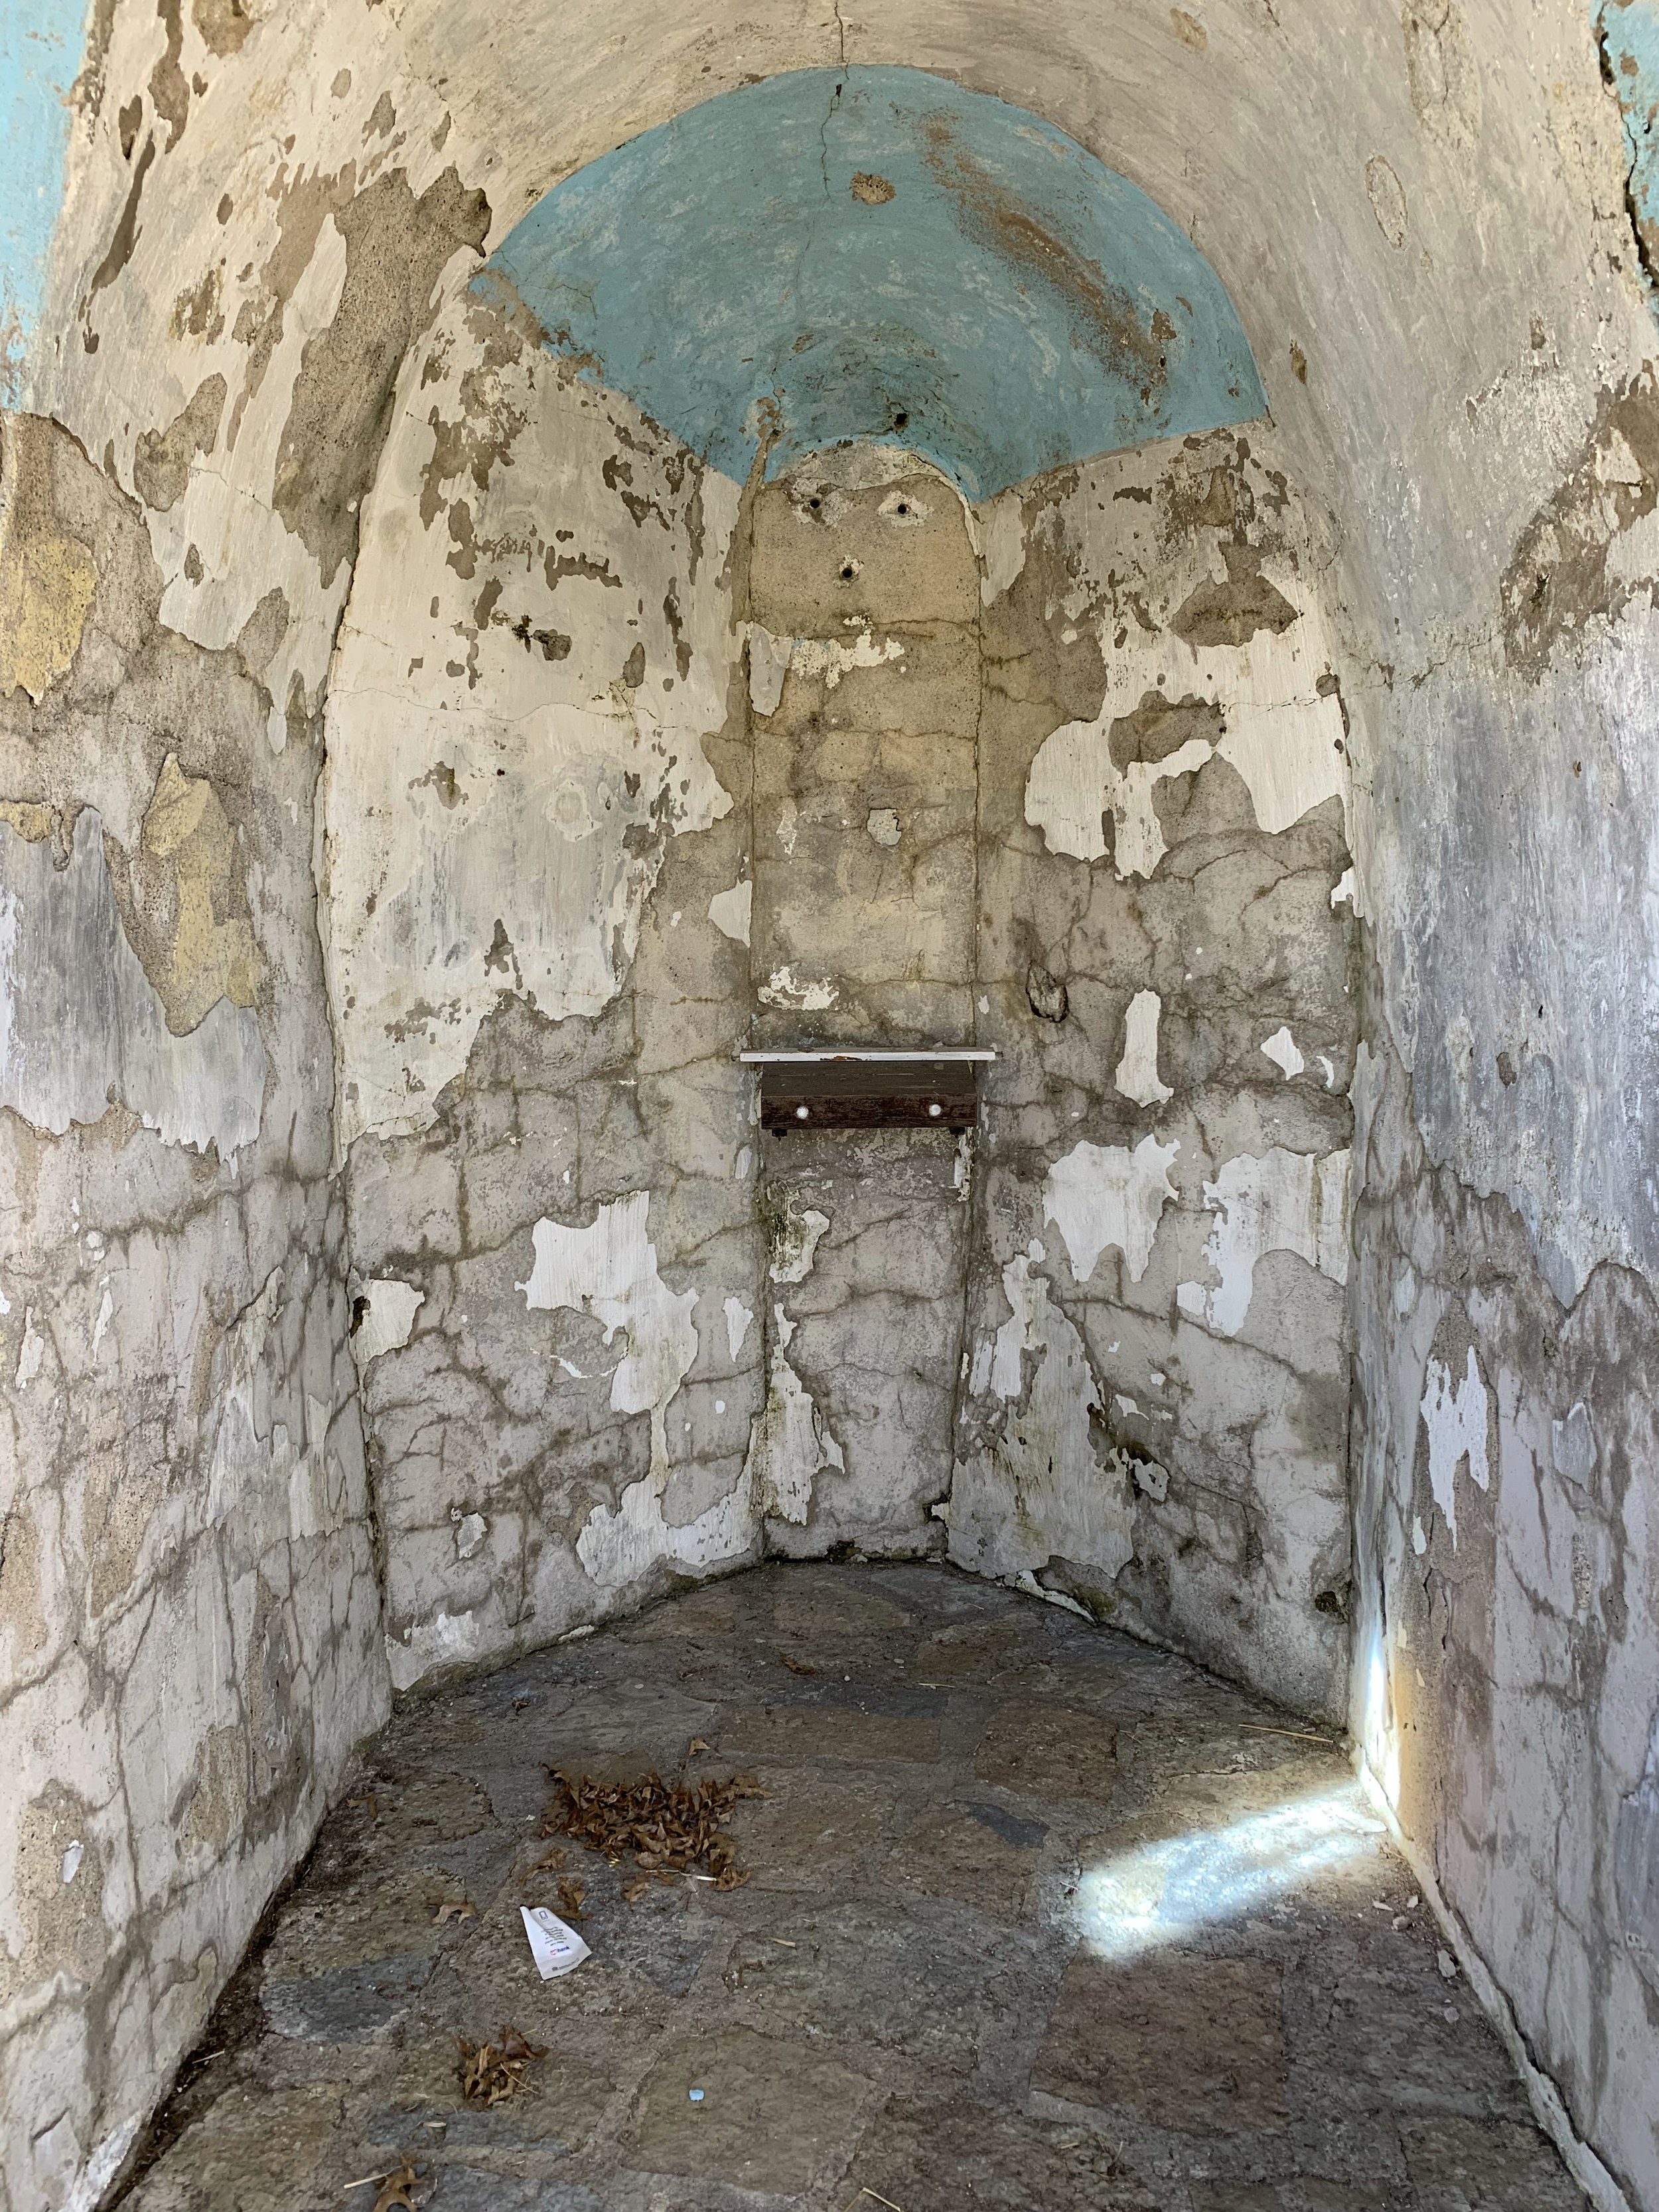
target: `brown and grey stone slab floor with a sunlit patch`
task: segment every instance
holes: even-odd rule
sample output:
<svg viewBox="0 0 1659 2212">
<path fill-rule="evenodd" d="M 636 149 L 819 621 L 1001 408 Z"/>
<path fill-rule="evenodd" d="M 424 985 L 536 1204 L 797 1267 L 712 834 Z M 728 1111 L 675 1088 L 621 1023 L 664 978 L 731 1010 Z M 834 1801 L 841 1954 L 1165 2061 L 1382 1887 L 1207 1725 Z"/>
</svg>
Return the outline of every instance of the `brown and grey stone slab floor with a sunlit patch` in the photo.
<svg viewBox="0 0 1659 2212">
<path fill-rule="evenodd" d="M 922 1566 L 761 1568 L 409 1703 L 128 2212 L 369 2212 L 405 2159 L 434 2212 L 1579 2208 L 1301 1728 Z M 593 1958 L 538 1980 L 546 1763 L 759 1776 L 750 1880 L 626 1902 L 566 1845 Z M 482 2110 L 456 2039 L 502 2026 L 549 2048 Z"/>
</svg>

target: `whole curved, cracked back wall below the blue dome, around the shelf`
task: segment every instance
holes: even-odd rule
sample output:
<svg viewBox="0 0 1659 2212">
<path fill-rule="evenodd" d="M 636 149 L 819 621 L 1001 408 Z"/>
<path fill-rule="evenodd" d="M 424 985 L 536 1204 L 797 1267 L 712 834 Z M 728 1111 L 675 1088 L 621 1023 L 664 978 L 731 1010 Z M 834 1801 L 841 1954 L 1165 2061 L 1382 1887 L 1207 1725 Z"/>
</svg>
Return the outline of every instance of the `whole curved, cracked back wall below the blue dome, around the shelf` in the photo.
<svg viewBox="0 0 1659 2212">
<path fill-rule="evenodd" d="M 849 447 L 739 511 L 515 316 L 411 361 L 327 710 L 394 1677 L 949 1544 L 1338 1712 L 1345 721 L 1283 471 L 975 518 Z M 993 1044 L 980 1137 L 761 1137 L 737 1048 L 812 1042 Z"/>
</svg>

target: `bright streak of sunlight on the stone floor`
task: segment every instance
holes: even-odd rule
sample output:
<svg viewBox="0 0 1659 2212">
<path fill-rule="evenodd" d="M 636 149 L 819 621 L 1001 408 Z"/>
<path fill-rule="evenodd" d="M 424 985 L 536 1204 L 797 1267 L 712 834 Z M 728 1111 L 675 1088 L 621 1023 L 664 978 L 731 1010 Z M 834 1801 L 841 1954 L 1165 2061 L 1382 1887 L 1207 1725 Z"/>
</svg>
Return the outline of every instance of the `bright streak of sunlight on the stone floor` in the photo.
<svg viewBox="0 0 1659 2212">
<path fill-rule="evenodd" d="M 1130 1960 L 1243 1920 L 1376 1849 L 1383 1823 L 1356 1783 L 1188 1829 L 1084 1867 L 1077 1929 L 1097 1958 Z"/>
</svg>

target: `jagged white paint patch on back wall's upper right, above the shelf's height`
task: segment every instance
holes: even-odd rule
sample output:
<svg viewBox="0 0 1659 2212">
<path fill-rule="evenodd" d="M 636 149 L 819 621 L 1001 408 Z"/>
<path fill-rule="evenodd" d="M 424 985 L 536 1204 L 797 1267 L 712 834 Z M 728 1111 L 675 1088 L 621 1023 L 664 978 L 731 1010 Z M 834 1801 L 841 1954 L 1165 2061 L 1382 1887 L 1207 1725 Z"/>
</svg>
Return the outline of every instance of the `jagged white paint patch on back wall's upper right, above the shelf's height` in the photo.
<svg viewBox="0 0 1659 2212">
<path fill-rule="evenodd" d="M 1274 577 L 1294 597 L 1294 573 Z M 1332 666 L 1325 626 L 1305 606 L 1287 630 L 1256 630 L 1243 646 L 1188 646 L 1172 630 L 1135 635 L 1121 648 L 1102 628 L 1106 697 L 1093 721 L 1068 721 L 1037 750 L 1026 779 L 1026 821 L 1042 830 L 1051 852 L 1079 860 L 1106 856 L 1102 814 L 1113 814 L 1113 865 L 1119 876 L 1150 876 L 1164 858 L 1164 832 L 1152 810 L 1152 787 L 1219 757 L 1239 770 L 1256 823 L 1287 830 L 1325 799 L 1347 805 L 1343 708 L 1321 697 L 1318 679 Z M 1148 692 L 1203 699 L 1219 706 L 1225 734 L 1219 743 L 1192 737 L 1164 761 L 1133 761 L 1119 770 L 1110 757 L 1113 723 L 1133 714 Z"/>
</svg>

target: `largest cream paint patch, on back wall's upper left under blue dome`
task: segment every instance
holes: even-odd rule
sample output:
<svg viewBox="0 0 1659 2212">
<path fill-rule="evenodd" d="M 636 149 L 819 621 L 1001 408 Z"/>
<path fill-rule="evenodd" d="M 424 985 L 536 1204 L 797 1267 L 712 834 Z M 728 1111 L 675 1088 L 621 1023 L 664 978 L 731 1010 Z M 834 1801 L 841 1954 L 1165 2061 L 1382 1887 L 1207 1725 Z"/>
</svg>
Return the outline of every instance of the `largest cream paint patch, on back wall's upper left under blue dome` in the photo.
<svg viewBox="0 0 1659 2212">
<path fill-rule="evenodd" d="M 726 721 L 737 487 L 617 394 L 562 385 L 542 347 L 484 358 L 493 341 L 462 294 L 411 352 L 411 372 L 442 376 L 405 378 L 327 688 L 338 1157 L 365 1130 L 427 1128 L 504 993 L 546 1020 L 611 1004 L 668 838 L 732 810 L 703 739 Z M 429 498 L 434 420 L 478 440 L 456 487 L 467 557 L 451 498 Z M 641 531 L 604 482 L 619 434 L 664 529 Z"/>
</svg>

